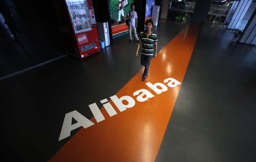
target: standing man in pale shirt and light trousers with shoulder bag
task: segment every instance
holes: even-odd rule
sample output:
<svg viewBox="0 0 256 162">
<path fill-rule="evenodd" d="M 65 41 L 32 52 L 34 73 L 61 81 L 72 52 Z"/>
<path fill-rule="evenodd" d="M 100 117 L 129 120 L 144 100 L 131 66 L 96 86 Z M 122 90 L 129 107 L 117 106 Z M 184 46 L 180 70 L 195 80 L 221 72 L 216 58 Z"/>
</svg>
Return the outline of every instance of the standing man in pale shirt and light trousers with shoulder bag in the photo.
<svg viewBox="0 0 256 162">
<path fill-rule="evenodd" d="M 131 4 L 131 11 L 127 13 L 126 18 L 130 19 L 131 21 L 129 22 L 129 34 L 130 34 L 130 41 L 132 42 L 132 30 L 134 33 L 134 36 L 136 38 L 136 41 L 139 41 L 136 28 L 137 28 L 137 23 L 138 23 L 138 16 L 137 12 L 134 11 L 135 7 L 134 4 Z"/>
</svg>

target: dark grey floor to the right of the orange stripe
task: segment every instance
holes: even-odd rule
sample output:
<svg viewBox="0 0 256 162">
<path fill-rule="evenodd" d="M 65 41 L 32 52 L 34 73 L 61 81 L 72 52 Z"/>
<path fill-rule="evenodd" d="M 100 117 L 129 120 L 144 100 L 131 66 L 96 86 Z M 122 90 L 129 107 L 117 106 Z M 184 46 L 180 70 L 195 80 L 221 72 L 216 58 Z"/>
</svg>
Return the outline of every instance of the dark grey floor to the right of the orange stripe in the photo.
<svg viewBox="0 0 256 162">
<path fill-rule="evenodd" d="M 156 161 L 256 161 L 255 47 L 204 24 Z"/>
</svg>

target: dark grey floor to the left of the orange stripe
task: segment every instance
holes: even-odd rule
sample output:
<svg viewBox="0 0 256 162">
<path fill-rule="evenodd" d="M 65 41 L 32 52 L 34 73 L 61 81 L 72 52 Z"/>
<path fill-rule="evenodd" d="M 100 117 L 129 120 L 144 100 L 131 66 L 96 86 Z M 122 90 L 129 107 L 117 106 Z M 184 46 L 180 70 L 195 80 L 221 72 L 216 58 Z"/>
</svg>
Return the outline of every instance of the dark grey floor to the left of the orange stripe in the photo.
<svg viewBox="0 0 256 162">
<path fill-rule="evenodd" d="M 153 27 L 161 37 L 158 50 L 184 27 L 165 22 Z M 66 113 L 76 110 L 91 119 L 89 104 L 102 105 L 100 100 L 115 95 L 140 71 L 136 49 L 137 42 L 124 35 L 83 61 L 67 56 L 0 81 L 0 106 L 5 114 L 1 118 L 2 138 L 6 139 L 1 141 L 3 156 L 10 160 L 50 159 L 80 129 L 58 141 Z"/>
</svg>

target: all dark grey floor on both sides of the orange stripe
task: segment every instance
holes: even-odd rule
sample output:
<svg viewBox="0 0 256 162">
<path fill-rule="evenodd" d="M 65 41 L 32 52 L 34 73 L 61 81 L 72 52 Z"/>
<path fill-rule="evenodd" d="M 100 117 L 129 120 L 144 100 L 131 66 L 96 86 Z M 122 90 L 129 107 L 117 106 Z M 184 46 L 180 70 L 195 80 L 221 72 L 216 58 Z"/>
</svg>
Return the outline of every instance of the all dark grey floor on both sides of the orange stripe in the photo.
<svg viewBox="0 0 256 162">
<path fill-rule="evenodd" d="M 184 27 L 153 27 L 158 51 Z M 156 161 L 256 161 L 256 48 L 231 42 L 230 32 L 203 25 Z M 136 47 L 125 35 L 83 61 L 65 57 L 0 81 L 2 157 L 50 159 L 79 130 L 58 141 L 65 113 L 90 119 L 89 104 L 115 95 L 142 68 Z"/>
</svg>

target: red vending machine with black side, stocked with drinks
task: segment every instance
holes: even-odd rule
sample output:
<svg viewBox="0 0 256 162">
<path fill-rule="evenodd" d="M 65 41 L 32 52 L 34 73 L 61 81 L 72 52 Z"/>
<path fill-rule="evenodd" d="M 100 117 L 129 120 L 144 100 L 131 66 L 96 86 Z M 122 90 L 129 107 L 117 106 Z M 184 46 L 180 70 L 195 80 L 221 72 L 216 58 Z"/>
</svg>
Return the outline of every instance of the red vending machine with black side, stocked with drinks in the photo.
<svg viewBox="0 0 256 162">
<path fill-rule="evenodd" d="M 92 0 L 53 0 L 53 6 L 68 55 L 83 59 L 100 51 Z"/>
</svg>

